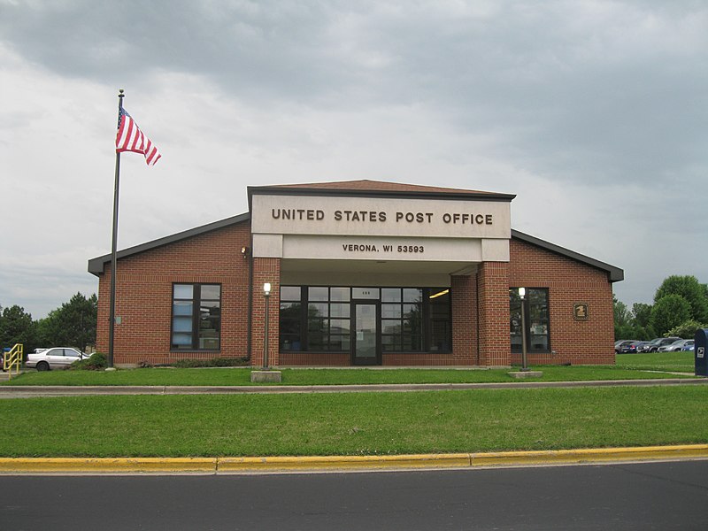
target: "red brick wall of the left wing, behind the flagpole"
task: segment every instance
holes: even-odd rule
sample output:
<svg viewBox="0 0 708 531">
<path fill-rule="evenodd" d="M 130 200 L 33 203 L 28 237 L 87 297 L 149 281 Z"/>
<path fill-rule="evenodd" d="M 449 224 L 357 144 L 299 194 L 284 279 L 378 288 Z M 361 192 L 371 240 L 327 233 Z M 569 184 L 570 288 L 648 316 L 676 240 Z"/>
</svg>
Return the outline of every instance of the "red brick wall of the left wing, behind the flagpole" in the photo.
<svg viewBox="0 0 708 531">
<path fill-rule="evenodd" d="M 119 259 L 116 316 L 122 323 L 115 327 L 113 363 L 246 356 L 249 260 L 241 254 L 243 245 L 250 246 L 248 221 Z M 173 282 L 221 284 L 219 352 L 170 351 Z M 110 264 L 98 293 L 96 348 L 107 353 Z"/>
</svg>

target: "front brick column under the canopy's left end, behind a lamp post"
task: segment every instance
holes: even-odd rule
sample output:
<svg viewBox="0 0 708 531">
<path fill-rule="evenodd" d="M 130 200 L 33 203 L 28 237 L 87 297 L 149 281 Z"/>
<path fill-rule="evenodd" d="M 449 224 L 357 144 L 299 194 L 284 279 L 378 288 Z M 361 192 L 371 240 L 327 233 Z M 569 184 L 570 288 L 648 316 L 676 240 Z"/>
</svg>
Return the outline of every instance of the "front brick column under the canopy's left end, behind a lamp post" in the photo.
<svg viewBox="0 0 708 531">
<path fill-rule="evenodd" d="M 280 365 L 280 258 L 253 258 L 250 364 L 255 367 L 263 366 L 263 340 L 266 323 L 266 297 L 263 295 L 263 284 L 266 282 L 271 283 L 271 296 L 268 301 L 268 365 L 273 367 Z"/>
</svg>

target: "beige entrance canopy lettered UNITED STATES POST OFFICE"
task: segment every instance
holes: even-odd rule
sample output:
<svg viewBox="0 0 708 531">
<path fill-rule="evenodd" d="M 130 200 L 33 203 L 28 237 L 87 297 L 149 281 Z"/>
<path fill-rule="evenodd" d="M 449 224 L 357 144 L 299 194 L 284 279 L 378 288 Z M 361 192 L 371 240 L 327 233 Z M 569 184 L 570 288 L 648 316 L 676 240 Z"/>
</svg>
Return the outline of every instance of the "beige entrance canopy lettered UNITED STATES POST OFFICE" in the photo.
<svg viewBox="0 0 708 531">
<path fill-rule="evenodd" d="M 252 187 L 249 198 L 253 256 L 281 258 L 283 281 L 373 274 L 382 283 L 388 275 L 396 284 L 401 275 L 448 282 L 481 262 L 509 261 L 513 196 L 354 181 Z"/>
</svg>

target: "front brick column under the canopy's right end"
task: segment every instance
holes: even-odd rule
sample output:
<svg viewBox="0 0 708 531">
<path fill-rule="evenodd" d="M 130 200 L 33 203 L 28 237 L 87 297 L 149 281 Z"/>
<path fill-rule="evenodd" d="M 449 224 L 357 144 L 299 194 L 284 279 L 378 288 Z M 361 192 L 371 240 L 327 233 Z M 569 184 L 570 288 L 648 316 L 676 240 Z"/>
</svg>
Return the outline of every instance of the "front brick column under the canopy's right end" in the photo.
<svg viewBox="0 0 708 531">
<path fill-rule="evenodd" d="M 506 262 L 483 262 L 477 270 L 482 366 L 512 365 L 508 270 Z"/>
</svg>

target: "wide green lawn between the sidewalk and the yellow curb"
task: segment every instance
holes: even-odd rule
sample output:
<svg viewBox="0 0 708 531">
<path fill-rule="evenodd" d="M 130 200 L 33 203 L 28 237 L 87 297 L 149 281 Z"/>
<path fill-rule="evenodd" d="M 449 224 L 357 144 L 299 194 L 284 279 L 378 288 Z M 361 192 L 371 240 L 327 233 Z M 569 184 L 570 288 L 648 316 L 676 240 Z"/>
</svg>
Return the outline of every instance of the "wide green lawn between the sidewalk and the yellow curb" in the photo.
<svg viewBox="0 0 708 531">
<path fill-rule="evenodd" d="M 708 442 L 708 387 L 6 400 L 3 457 L 375 455 Z"/>
</svg>

